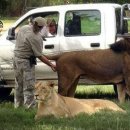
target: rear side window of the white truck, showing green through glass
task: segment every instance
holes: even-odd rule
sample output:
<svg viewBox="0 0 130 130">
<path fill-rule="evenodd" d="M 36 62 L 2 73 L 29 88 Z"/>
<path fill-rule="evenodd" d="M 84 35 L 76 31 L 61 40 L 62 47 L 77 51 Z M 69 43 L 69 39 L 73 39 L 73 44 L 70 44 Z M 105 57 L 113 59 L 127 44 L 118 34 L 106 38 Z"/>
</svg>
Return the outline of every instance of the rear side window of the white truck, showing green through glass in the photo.
<svg viewBox="0 0 130 130">
<path fill-rule="evenodd" d="M 101 33 L 101 14 L 98 10 L 68 11 L 65 15 L 65 36 L 88 36 Z"/>
</svg>

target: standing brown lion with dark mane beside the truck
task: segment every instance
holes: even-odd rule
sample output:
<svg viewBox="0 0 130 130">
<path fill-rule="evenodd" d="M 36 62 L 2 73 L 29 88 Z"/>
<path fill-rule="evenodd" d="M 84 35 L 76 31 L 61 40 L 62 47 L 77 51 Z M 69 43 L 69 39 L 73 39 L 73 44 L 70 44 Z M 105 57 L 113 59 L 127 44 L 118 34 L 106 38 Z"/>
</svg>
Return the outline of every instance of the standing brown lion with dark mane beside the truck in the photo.
<svg viewBox="0 0 130 130">
<path fill-rule="evenodd" d="M 111 44 L 109 49 L 64 52 L 47 56 L 55 60 L 58 74 L 58 93 L 74 97 L 80 77 L 97 84 L 116 84 L 118 99 L 130 96 L 130 39 Z"/>
</svg>

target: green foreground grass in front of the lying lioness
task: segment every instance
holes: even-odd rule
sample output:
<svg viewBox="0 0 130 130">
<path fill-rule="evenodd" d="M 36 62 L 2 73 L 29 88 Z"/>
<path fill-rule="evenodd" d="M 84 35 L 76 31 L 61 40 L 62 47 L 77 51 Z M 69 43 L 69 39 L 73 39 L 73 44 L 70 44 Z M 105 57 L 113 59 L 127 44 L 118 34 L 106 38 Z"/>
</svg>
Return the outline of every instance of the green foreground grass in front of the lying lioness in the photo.
<svg viewBox="0 0 130 130">
<path fill-rule="evenodd" d="M 125 106 L 125 108 L 128 106 Z M 129 106 L 130 107 L 130 106 Z M 101 112 L 92 116 L 80 114 L 74 118 L 45 117 L 34 121 L 35 110 L 15 110 L 12 103 L 0 105 L 0 130 L 129 130 L 130 112 Z"/>
</svg>

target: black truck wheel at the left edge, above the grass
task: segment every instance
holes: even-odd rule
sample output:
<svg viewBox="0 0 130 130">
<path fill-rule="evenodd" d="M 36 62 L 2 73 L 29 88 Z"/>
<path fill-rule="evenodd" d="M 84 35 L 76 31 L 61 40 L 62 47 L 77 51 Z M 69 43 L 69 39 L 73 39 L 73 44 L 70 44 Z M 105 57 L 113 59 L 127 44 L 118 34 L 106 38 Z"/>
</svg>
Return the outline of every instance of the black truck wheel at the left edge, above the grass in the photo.
<svg viewBox="0 0 130 130">
<path fill-rule="evenodd" d="M 0 100 L 7 100 L 10 96 L 12 88 L 0 88 Z"/>
</svg>

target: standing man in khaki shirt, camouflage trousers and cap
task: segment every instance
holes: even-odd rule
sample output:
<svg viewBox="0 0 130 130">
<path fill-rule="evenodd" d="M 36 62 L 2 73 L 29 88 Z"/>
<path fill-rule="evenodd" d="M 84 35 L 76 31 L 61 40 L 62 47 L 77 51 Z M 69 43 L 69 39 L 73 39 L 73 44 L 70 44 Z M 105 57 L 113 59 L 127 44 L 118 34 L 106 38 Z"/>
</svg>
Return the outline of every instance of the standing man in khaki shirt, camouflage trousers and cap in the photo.
<svg viewBox="0 0 130 130">
<path fill-rule="evenodd" d="M 16 36 L 14 49 L 15 108 L 22 105 L 29 108 L 34 103 L 35 57 L 50 66 L 53 71 L 56 70 L 56 66 L 42 55 L 43 40 L 40 31 L 45 25 L 44 18 L 36 17 L 32 26 L 21 27 Z"/>
</svg>

